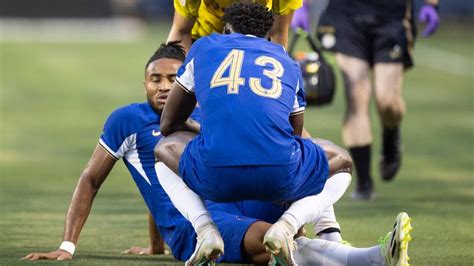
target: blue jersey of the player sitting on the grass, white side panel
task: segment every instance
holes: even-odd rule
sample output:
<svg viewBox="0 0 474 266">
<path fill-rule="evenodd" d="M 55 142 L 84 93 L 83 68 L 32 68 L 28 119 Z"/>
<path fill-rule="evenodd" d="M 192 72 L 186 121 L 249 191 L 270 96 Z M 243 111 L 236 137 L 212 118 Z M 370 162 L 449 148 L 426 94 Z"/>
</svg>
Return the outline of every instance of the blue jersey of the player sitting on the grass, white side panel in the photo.
<svg viewBox="0 0 474 266">
<path fill-rule="evenodd" d="M 199 119 L 198 114 L 191 117 Z M 159 115 L 148 103 L 121 107 L 107 119 L 99 144 L 115 159 L 123 159 L 164 241 L 180 243 L 188 222 L 171 203 L 155 172 L 153 149 L 162 137 L 159 123 Z"/>
</svg>

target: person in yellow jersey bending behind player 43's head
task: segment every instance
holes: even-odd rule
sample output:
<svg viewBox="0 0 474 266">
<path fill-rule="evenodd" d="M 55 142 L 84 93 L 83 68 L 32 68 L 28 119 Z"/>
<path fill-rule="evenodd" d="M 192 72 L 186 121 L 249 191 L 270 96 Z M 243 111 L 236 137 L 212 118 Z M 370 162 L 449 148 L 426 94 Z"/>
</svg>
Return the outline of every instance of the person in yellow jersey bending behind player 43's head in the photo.
<svg viewBox="0 0 474 266">
<path fill-rule="evenodd" d="M 242 0 L 240 0 L 242 1 Z M 275 14 L 275 23 L 268 34 L 273 42 L 287 46 L 288 29 L 293 12 L 302 6 L 302 0 L 252 0 L 270 8 Z M 182 41 L 189 50 L 193 40 L 213 32 L 221 33 L 224 28 L 224 8 L 239 0 L 174 0 L 173 25 L 168 42 Z M 248 0 L 247 2 L 251 2 Z"/>
</svg>

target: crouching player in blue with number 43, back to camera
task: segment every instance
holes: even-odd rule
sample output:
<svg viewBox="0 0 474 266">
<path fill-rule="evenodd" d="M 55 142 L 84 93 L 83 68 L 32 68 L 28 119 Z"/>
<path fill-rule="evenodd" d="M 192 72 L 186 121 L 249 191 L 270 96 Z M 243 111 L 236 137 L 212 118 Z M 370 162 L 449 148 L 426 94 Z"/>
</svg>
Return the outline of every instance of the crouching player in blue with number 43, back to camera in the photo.
<svg viewBox="0 0 474 266">
<path fill-rule="evenodd" d="M 301 72 L 281 45 L 262 38 L 272 13 L 234 3 L 223 20 L 230 34 L 196 41 L 178 71 L 161 116 L 166 137 L 155 150 L 157 175 L 197 233 L 190 264 L 224 253 L 204 198 L 292 202 L 263 243 L 274 261 L 293 265 L 293 237 L 342 196 L 352 162 L 329 141 L 292 136 L 303 126 Z M 196 135 L 187 119 L 197 102 L 202 130 Z"/>
</svg>

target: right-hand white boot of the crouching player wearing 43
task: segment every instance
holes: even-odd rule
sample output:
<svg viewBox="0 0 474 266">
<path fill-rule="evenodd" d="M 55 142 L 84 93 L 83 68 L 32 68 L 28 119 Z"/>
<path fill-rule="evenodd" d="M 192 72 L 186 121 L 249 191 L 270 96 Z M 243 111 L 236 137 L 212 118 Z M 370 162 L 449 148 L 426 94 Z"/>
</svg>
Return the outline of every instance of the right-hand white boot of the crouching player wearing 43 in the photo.
<svg viewBox="0 0 474 266">
<path fill-rule="evenodd" d="M 293 251 L 296 243 L 293 240 L 296 232 L 285 220 L 274 223 L 263 237 L 263 244 L 272 256 L 268 265 L 271 266 L 296 266 Z"/>
</svg>

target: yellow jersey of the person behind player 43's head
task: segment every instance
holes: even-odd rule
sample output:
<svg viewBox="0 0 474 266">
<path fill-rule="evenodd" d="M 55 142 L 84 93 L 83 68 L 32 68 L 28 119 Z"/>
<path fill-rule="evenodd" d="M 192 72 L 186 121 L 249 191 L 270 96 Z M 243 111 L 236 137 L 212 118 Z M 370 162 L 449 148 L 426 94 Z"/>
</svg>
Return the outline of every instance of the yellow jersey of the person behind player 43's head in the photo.
<svg viewBox="0 0 474 266">
<path fill-rule="evenodd" d="M 287 15 L 303 5 L 303 0 L 252 0 L 264 4 L 277 15 Z M 195 18 L 192 38 L 222 32 L 224 8 L 236 0 L 174 0 L 174 9 L 185 18 Z"/>
</svg>

